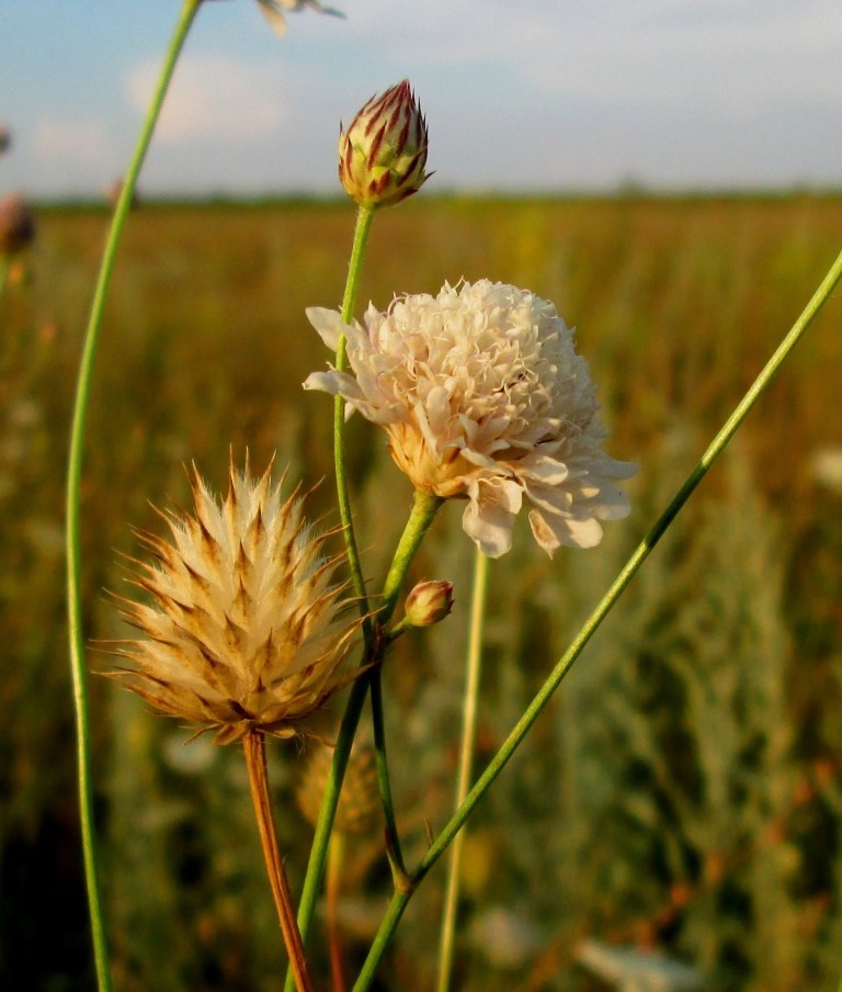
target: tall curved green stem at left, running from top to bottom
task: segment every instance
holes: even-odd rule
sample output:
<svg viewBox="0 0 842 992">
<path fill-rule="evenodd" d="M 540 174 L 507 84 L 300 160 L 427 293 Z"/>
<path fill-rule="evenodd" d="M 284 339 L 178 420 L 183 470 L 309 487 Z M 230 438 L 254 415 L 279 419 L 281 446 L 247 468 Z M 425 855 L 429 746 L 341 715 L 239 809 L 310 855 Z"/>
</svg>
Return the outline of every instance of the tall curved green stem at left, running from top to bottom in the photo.
<svg viewBox="0 0 842 992">
<path fill-rule="evenodd" d="M 132 199 L 137 185 L 149 142 L 160 114 L 163 98 L 172 78 L 175 63 L 184 41 L 198 11 L 201 0 L 184 0 L 179 20 L 161 67 L 158 87 L 147 112 L 137 146 L 125 177 L 123 190 L 114 211 L 105 249 L 102 257 L 96 288 L 91 304 L 91 313 L 86 331 L 79 377 L 76 387 L 72 422 L 70 427 L 70 448 L 67 469 L 67 608 L 70 641 L 70 670 L 73 685 L 73 704 L 76 710 L 77 763 L 79 777 L 79 819 L 82 834 L 82 852 L 84 858 L 86 884 L 88 888 L 88 905 L 93 938 L 93 954 L 96 966 L 96 980 L 100 992 L 111 990 L 109 952 L 105 937 L 105 925 L 96 867 L 96 850 L 93 826 L 93 788 L 91 782 L 91 733 L 88 701 L 87 674 L 84 667 L 84 635 L 82 632 L 81 606 L 81 551 L 80 551 L 80 483 L 82 456 L 84 450 L 84 425 L 88 413 L 88 399 L 91 391 L 91 373 L 96 353 L 96 343 L 102 326 L 105 297 L 111 284 L 117 247 L 128 215 Z"/>
</svg>

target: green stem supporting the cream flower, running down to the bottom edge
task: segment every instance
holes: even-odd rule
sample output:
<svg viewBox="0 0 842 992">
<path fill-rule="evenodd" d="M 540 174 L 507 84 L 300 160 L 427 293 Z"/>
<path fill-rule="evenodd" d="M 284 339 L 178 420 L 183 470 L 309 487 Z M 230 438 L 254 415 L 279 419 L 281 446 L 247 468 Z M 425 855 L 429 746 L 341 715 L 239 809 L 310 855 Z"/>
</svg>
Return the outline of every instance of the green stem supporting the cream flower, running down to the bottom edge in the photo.
<svg viewBox="0 0 842 992">
<path fill-rule="evenodd" d="M 391 615 L 395 612 L 400 588 L 407 572 L 409 571 L 409 566 L 412 563 L 412 559 L 443 501 L 444 500 L 440 499 L 437 496 L 416 493 L 412 511 L 395 551 L 395 556 L 392 557 L 384 584 L 383 596 L 380 597 L 380 609 L 377 613 L 377 622 L 379 625 L 388 623 Z M 368 657 L 371 656 L 366 655 L 366 658 Z M 366 658 L 364 658 L 364 661 Z M 345 706 L 345 712 L 342 717 L 342 723 L 339 728 L 339 735 L 337 736 L 333 762 L 331 764 L 327 785 L 325 786 L 325 796 L 321 800 L 321 810 L 319 811 L 319 822 L 316 824 L 310 858 L 307 864 L 307 875 L 301 890 L 301 902 L 298 906 L 298 929 L 300 931 L 301 939 L 305 942 L 305 945 L 316 911 L 316 901 L 319 895 L 319 889 L 321 888 L 321 880 L 325 875 L 325 861 L 328 855 L 330 834 L 333 830 L 333 819 L 337 814 L 337 807 L 339 805 L 339 793 L 342 789 L 342 780 L 345 775 L 345 768 L 348 767 L 351 746 L 354 743 L 354 734 L 356 733 L 356 726 L 360 722 L 360 714 L 363 711 L 363 703 L 365 702 L 367 691 L 368 679 L 359 678 L 353 684 L 348 698 L 348 704 Z M 291 992 L 293 988 L 292 974 L 287 971 L 286 992 Z"/>
</svg>

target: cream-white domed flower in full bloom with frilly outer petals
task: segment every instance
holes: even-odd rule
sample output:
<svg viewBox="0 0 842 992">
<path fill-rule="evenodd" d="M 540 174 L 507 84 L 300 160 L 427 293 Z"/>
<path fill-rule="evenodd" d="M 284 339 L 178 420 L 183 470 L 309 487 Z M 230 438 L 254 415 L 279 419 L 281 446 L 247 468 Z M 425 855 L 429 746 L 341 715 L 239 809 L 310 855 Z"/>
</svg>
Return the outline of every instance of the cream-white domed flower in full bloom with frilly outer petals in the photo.
<svg viewBox="0 0 842 992">
<path fill-rule="evenodd" d="M 613 480 L 636 466 L 601 450 L 588 363 L 551 303 L 481 280 L 369 306 L 365 327 L 329 309 L 307 316 L 331 349 L 345 335 L 354 375 L 316 372 L 305 388 L 379 424 L 416 488 L 467 499 L 463 526 L 485 554 L 510 549 L 524 497 L 550 555 L 598 544 L 599 521 L 628 514 Z"/>
</svg>

